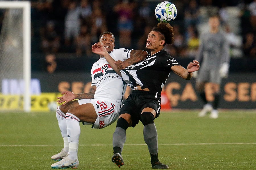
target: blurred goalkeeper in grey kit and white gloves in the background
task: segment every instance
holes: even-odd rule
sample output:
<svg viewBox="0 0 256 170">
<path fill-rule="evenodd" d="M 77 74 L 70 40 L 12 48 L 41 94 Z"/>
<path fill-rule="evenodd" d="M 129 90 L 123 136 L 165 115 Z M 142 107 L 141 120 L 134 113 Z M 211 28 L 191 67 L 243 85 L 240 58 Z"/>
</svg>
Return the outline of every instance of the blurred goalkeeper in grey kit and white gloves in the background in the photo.
<svg viewBox="0 0 256 170">
<path fill-rule="evenodd" d="M 208 20 L 209 31 L 202 33 L 199 45 L 199 54 L 195 58 L 201 62 L 200 71 L 196 77 L 196 90 L 204 102 L 204 107 L 198 116 L 203 117 L 211 112 L 210 118 L 218 118 L 218 104 L 220 100 L 220 83 L 222 78 L 228 76 L 229 70 L 229 45 L 224 31 L 220 30 L 220 19 L 217 15 Z M 205 84 L 210 83 L 214 94 L 212 104 L 206 98 Z"/>
</svg>

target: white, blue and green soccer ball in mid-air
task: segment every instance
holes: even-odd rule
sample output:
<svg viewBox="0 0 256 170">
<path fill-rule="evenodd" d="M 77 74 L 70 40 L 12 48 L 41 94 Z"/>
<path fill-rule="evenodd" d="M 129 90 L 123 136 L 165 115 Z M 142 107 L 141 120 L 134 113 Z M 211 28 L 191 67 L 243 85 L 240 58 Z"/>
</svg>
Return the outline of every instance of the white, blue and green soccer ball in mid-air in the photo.
<svg viewBox="0 0 256 170">
<path fill-rule="evenodd" d="M 156 6 L 155 16 L 159 22 L 171 22 L 177 16 L 177 8 L 168 1 L 163 1 Z"/>
</svg>

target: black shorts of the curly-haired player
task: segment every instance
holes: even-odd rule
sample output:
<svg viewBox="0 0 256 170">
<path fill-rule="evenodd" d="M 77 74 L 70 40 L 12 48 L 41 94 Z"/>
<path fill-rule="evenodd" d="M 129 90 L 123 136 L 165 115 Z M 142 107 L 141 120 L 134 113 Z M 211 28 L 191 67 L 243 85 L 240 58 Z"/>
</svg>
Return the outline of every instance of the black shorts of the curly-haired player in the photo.
<svg viewBox="0 0 256 170">
<path fill-rule="evenodd" d="M 133 90 L 132 94 L 125 100 L 120 109 L 119 115 L 128 113 L 132 118 L 132 127 L 135 127 L 141 120 L 141 112 L 144 108 L 150 107 L 156 111 L 157 118 L 160 114 L 161 94 L 150 91 Z"/>
</svg>

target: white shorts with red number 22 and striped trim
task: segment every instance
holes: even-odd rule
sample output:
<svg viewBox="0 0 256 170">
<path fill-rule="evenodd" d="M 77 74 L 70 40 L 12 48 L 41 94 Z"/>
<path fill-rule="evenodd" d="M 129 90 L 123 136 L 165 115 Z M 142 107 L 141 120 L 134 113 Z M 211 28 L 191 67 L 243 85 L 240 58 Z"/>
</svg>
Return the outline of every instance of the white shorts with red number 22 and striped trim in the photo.
<svg viewBox="0 0 256 170">
<path fill-rule="evenodd" d="M 118 118 L 120 108 L 111 102 L 104 101 L 102 99 L 81 99 L 78 100 L 79 105 L 92 103 L 94 109 L 98 115 L 92 128 L 101 129 L 111 125 Z M 89 125 L 91 123 L 83 122 L 83 125 Z"/>
</svg>

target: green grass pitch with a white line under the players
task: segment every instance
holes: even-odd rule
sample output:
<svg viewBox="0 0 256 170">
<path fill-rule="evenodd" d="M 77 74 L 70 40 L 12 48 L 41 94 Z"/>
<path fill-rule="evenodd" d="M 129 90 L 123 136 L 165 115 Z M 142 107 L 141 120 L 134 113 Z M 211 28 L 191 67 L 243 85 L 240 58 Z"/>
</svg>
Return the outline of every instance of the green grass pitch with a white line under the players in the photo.
<svg viewBox="0 0 256 170">
<path fill-rule="evenodd" d="M 0 112 L 0 169 L 51 169 L 63 147 L 54 112 Z M 256 111 L 221 110 L 218 119 L 197 111 L 161 112 L 155 120 L 158 156 L 169 169 L 256 169 Z M 111 162 L 115 123 L 104 129 L 81 126 L 78 169 L 119 169 Z M 127 129 L 120 168 L 152 169 L 141 122 Z"/>
</svg>

